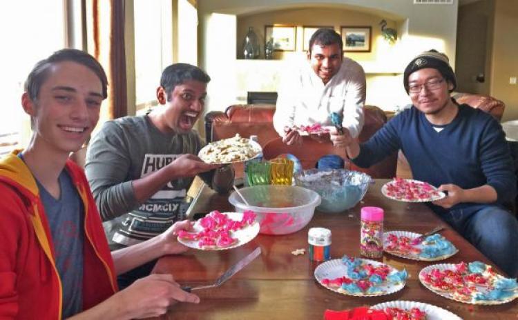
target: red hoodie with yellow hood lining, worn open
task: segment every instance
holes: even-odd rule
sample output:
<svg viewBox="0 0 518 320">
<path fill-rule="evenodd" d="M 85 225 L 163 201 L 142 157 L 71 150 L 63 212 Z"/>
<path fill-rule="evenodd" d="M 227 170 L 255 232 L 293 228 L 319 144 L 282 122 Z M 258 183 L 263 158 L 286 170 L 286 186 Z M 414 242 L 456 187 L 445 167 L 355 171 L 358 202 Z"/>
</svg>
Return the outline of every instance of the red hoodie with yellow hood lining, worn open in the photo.
<svg viewBox="0 0 518 320">
<path fill-rule="evenodd" d="M 61 319 L 63 294 L 34 177 L 12 152 L 0 160 L 0 319 Z M 66 170 L 84 205 L 83 310 L 117 292 L 113 260 L 83 170 Z"/>
</svg>

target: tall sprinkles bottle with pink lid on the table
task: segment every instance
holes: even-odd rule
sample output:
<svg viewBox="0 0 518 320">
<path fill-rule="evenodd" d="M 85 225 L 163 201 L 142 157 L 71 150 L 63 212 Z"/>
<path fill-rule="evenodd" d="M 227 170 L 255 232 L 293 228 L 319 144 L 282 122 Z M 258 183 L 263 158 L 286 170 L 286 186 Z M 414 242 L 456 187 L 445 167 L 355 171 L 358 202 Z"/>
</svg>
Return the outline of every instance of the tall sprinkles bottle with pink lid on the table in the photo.
<svg viewBox="0 0 518 320">
<path fill-rule="evenodd" d="M 367 258 L 383 256 L 383 209 L 361 208 L 360 254 Z"/>
</svg>

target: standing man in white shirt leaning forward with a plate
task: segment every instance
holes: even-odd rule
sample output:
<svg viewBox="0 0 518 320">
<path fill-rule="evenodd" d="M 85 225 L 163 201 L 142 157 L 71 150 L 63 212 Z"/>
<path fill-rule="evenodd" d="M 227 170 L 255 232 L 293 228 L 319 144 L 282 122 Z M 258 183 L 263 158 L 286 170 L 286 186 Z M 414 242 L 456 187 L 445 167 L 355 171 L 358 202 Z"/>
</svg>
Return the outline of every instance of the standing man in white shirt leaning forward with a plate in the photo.
<svg viewBox="0 0 518 320">
<path fill-rule="evenodd" d="M 302 143 L 295 126 L 331 126 L 332 112 L 340 114 L 343 128 L 352 137 L 358 137 L 363 127 L 365 72 L 356 61 L 343 57 L 342 50 L 340 34 L 320 28 L 309 39 L 308 63 L 282 79 L 274 127 L 284 143 Z M 330 137 L 334 146 L 345 146 L 343 134 L 332 129 Z"/>
</svg>

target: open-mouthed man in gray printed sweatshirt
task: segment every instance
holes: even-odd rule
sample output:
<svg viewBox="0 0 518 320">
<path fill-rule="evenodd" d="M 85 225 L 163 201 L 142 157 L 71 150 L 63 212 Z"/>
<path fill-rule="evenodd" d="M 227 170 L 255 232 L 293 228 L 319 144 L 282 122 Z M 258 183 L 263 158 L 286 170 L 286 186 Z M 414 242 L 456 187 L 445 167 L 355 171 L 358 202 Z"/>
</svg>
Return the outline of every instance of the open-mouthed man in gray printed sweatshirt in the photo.
<svg viewBox="0 0 518 320">
<path fill-rule="evenodd" d="M 203 112 L 209 81 L 187 63 L 165 68 L 157 88 L 161 108 L 107 121 L 90 142 L 86 177 L 112 250 L 155 237 L 185 219 L 184 199 L 197 174 L 215 190 L 231 188 L 231 166 L 220 168 L 195 155 L 204 142 L 193 125 Z M 119 286 L 146 276 L 154 264 L 122 274 Z"/>
</svg>

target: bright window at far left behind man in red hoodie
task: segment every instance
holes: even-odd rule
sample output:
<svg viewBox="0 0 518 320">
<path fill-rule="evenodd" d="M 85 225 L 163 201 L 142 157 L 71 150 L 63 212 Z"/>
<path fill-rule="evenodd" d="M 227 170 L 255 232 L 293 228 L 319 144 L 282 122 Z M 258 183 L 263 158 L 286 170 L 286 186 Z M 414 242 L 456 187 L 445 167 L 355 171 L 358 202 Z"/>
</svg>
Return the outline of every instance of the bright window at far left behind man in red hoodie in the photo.
<svg viewBox="0 0 518 320">
<path fill-rule="evenodd" d="M 0 117 L 0 154 L 25 148 L 30 119 L 21 108 L 23 83 L 37 61 L 65 47 L 64 1 L 8 1 L 0 5 L 3 117 Z M 30 8 L 28 8 L 30 7 Z"/>
</svg>

